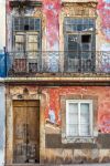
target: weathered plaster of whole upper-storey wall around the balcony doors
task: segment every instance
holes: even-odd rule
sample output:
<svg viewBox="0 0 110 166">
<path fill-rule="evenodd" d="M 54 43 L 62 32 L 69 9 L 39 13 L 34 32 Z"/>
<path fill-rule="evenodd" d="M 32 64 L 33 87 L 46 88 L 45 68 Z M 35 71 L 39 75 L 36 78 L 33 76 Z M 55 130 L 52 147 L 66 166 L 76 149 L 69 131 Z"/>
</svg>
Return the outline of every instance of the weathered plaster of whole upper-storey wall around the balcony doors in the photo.
<svg viewBox="0 0 110 166">
<path fill-rule="evenodd" d="M 9 6 L 9 1 L 7 0 L 7 27 L 8 27 L 8 50 L 11 51 L 12 49 L 12 14 L 16 14 L 16 11 L 12 11 Z M 69 8 L 63 9 L 62 0 L 38 0 L 42 1 L 42 19 L 45 18 L 45 21 L 42 21 L 43 28 L 43 35 L 42 35 L 42 50 L 44 51 L 64 51 L 64 31 L 63 31 L 63 23 L 64 18 L 62 17 L 62 13 L 65 17 L 69 17 Z M 65 2 L 68 2 L 65 0 Z M 72 2 L 72 1 L 70 1 Z M 77 0 L 75 1 L 77 2 Z M 81 2 L 88 2 L 88 0 L 82 0 Z M 96 2 L 96 0 L 94 0 Z M 92 13 L 97 11 L 96 15 L 96 50 L 97 51 L 106 51 L 99 53 L 97 55 L 97 61 L 101 62 L 105 66 L 105 71 L 110 71 L 110 68 L 108 66 L 108 61 L 110 61 L 110 25 L 109 25 L 109 14 L 110 14 L 110 2 L 109 0 L 98 0 L 97 9 L 96 7 L 89 7 L 87 4 L 87 8 L 90 8 L 90 14 L 89 17 L 95 17 Z M 73 6 L 74 11 L 74 6 Z M 68 14 L 65 14 L 68 13 Z M 34 15 L 37 17 L 37 10 L 34 9 L 28 10 L 25 15 Z M 75 15 L 72 15 L 75 17 Z M 109 52 L 107 52 L 109 51 Z M 45 55 L 42 55 L 42 59 L 45 60 Z M 48 53 L 46 55 L 46 63 L 47 68 L 52 72 L 58 71 L 58 62 L 64 61 L 64 56 L 59 56 L 57 53 Z M 45 63 L 45 62 L 44 62 Z"/>
</svg>

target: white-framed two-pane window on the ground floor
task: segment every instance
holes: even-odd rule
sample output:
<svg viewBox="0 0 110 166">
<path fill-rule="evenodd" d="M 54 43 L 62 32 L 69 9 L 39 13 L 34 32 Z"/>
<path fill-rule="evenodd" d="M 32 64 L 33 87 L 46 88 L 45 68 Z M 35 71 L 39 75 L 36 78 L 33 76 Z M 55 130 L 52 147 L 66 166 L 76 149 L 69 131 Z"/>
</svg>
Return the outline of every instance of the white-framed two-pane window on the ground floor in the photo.
<svg viewBox="0 0 110 166">
<path fill-rule="evenodd" d="M 66 136 L 92 136 L 92 101 L 66 101 Z"/>
</svg>

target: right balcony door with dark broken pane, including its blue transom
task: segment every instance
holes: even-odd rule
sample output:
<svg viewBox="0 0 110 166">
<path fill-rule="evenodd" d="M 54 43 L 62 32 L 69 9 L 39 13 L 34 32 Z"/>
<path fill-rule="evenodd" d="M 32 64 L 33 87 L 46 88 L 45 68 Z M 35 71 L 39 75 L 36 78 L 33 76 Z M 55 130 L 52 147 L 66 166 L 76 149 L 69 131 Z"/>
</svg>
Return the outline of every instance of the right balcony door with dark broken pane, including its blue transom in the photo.
<svg viewBox="0 0 110 166">
<path fill-rule="evenodd" d="M 65 18 L 65 69 L 73 72 L 89 72 L 95 69 L 95 19 Z"/>
</svg>

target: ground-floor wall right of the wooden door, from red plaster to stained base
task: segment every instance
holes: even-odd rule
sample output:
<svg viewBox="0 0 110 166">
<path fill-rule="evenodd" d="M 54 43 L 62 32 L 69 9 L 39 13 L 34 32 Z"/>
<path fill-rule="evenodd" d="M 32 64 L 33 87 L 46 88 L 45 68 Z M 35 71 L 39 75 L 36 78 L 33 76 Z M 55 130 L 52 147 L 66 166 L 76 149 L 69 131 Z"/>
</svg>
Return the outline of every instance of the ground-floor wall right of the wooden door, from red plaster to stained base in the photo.
<svg viewBox="0 0 110 166">
<path fill-rule="evenodd" d="M 48 87 L 45 108 L 45 158 L 46 163 L 96 163 L 110 162 L 110 87 L 109 86 L 72 86 Z M 63 143 L 64 107 L 62 97 L 80 97 L 96 100 L 94 112 L 97 117 L 98 135 L 88 143 Z"/>
</svg>

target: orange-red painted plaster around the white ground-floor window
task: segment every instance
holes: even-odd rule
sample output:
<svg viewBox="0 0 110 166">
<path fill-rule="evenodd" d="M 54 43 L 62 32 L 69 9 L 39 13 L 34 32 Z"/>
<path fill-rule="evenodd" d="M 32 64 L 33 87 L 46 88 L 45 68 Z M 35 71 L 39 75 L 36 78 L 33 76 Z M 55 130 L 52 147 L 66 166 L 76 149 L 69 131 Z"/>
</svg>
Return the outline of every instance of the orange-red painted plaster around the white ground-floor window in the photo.
<svg viewBox="0 0 110 166">
<path fill-rule="evenodd" d="M 45 90 L 50 97 L 45 110 L 45 118 L 52 114 L 52 123 L 61 124 L 61 95 L 91 95 L 98 98 L 98 129 L 110 133 L 110 87 L 109 86 L 74 86 L 52 87 Z M 55 116 L 55 117 L 54 117 Z"/>
</svg>

